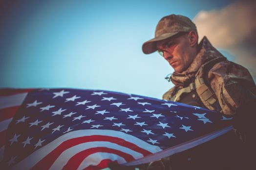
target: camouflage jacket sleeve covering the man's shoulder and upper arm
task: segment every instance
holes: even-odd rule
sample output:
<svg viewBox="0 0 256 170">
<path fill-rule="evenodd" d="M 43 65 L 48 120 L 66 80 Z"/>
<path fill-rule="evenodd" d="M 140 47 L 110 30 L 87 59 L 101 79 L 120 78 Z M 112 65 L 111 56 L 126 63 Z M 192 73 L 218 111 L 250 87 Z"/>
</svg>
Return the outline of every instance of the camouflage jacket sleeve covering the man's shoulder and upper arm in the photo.
<svg viewBox="0 0 256 170">
<path fill-rule="evenodd" d="M 211 87 L 224 114 L 234 115 L 235 109 L 256 99 L 256 86 L 249 71 L 233 62 L 217 63 L 208 73 Z"/>
</svg>

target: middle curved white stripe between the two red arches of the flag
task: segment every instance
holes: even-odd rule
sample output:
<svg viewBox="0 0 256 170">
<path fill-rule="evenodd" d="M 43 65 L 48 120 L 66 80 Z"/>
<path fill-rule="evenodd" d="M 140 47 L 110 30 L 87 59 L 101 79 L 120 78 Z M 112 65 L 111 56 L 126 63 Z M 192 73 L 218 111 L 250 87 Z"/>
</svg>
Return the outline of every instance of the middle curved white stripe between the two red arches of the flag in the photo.
<svg viewBox="0 0 256 170">
<path fill-rule="evenodd" d="M 85 151 L 86 149 L 89 148 L 97 148 L 97 147 L 106 147 L 106 148 L 111 148 L 111 149 L 115 149 L 124 153 L 127 153 L 129 155 L 131 155 L 134 159 L 138 159 L 143 157 L 143 154 L 135 152 L 133 150 L 130 150 L 126 147 L 120 146 L 118 144 L 115 143 L 111 143 L 111 142 L 86 142 L 86 143 L 82 143 L 79 145 L 76 145 L 74 147 L 71 147 L 69 149 L 67 149 L 66 151 L 64 151 L 54 162 L 54 164 L 51 166 L 50 170 L 57 170 L 57 169 L 62 169 L 65 165 L 65 163 L 75 154 L 81 152 L 81 151 Z M 115 159 L 113 161 L 119 161 L 118 159 Z M 123 162 L 125 163 L 125 162 Z"/>
</svg>

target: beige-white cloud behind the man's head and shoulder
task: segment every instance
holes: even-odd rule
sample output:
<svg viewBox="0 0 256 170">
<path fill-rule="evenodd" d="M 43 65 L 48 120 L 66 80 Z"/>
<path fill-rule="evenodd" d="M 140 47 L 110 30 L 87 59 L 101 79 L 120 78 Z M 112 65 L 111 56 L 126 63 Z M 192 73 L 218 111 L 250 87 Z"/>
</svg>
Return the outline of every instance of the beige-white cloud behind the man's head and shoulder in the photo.
<svg viewBox="0 0 256 170">
<path fill-rule="evenodd" d="M 256 0 L 237 0 L 220 10 L 200 11 L 193 19 L 199 38 L 226 49 L 256 77 Z"/>
</svg>

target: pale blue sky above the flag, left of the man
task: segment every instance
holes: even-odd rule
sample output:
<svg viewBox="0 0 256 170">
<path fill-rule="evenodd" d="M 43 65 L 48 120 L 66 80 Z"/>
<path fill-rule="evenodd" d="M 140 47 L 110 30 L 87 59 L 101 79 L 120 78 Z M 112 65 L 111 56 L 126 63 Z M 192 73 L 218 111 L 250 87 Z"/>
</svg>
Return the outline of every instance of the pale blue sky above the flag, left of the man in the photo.
<svg viewBox="0 0 256 170">
<path fill-rule="evenodd" d="M 166 15 L 191 19 L 232 0 L 0 2 L 0 87 L 102 89 L 161 98 L 173 72 L 142 44 Z M 227 51 L 222 51 L 232 60 Z"/>
</svg>

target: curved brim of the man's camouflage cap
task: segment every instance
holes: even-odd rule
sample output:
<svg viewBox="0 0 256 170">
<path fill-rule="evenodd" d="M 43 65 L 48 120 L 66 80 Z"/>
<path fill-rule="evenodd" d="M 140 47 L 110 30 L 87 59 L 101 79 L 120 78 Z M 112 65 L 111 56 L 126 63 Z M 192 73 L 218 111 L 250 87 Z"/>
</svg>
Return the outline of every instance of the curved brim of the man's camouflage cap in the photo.
<svg viewBox="0 0 256 170">
<path fill-rule="evenodd" d="M 154 51 L 157 50 L 157 47 L 156 47 L 156 42 L 158 41 L 162 41 L 162 40 L 165 40 L 167 38 L 170 38 L 171 36 L 173 35 L 176 35 L 178 34 L 179 32 L 173 32 L 173 33 L 166 33 L 166 34 L 161 34 L 160 36 L 157 36 L 153 39 L 150 39 L 149 41 L 145 42 L 143 45 L 142 45 L 142 51 L 145 53 L 145 54 L 150 54 Z"/>
</svg>

